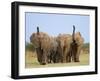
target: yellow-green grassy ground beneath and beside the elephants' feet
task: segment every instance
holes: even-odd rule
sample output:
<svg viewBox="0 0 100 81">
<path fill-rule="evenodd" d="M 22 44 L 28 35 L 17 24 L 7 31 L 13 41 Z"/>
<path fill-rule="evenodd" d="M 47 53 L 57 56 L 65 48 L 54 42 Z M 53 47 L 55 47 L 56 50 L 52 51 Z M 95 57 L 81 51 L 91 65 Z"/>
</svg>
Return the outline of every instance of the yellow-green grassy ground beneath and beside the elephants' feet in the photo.
<svg viewBox="0 0 100 81">
<path fill-rule="evenodd" d="M 26 51 L 25 54 L 25 68 L 40 68 L 40 67 L 62 67 L 62 66 L 82 66 L 89 65 L 89 54 L 81 54 L 80 62 L 71 62 L 71 63 L 55 63 L 40 65 L 36 58 L 36 53 Z"/>
</svg>

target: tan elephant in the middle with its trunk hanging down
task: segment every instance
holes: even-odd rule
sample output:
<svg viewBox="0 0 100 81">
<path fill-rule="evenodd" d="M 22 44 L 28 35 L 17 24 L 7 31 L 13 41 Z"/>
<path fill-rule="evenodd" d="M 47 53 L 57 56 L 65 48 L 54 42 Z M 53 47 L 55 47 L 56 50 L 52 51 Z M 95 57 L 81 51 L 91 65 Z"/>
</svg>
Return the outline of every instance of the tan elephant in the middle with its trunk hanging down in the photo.
<svg viewBox="0 0 100 81">
<path fill-rule="evenodd" d="M 57 37 L 58 42 L 58 53 L 60 54 L 60 61 L 62 63 L 67 62 L 69 57 L 70 46 L 72 43 L 72 36 L 70 34 L 59 34 Z"/>
</svg>

